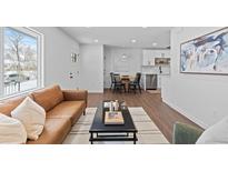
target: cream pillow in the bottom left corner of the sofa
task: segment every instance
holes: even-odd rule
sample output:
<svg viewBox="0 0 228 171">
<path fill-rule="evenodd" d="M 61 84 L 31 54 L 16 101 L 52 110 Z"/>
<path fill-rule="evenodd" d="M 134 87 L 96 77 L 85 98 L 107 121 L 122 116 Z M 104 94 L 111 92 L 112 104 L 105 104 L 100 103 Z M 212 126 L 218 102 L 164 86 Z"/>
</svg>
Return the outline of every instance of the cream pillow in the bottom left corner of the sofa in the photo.
<svg viewBox="0 0 228 171">
<path fill-rule="evenodd" d="M 0 113 L 0 143 L 26 143 L 27 132 L 23 124 Z"/>
</svg>

